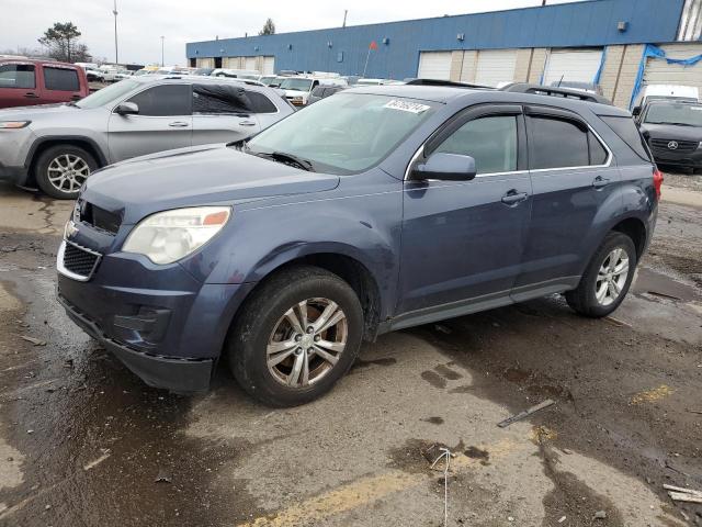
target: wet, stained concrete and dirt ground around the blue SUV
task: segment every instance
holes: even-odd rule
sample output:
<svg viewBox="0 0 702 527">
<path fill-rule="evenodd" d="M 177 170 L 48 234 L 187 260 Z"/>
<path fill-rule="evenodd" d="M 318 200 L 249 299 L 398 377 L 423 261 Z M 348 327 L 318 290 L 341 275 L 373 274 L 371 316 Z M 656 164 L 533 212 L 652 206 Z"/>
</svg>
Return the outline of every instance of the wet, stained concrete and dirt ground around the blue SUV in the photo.
<svg viewBox="0 0 702 527">
<path fill-rule="evenodd" d="M 555 295 L 385 335 L 291 410 L 224 368 L 143 384 L 54 300 L 71 204 L 0 187 L 0 525 L 440 526 L 445 492 L 450 526 L 702 526 L 663 489 L 702 490 L 702 178 L 666 183 L 612 318 Z"/>
</svg>

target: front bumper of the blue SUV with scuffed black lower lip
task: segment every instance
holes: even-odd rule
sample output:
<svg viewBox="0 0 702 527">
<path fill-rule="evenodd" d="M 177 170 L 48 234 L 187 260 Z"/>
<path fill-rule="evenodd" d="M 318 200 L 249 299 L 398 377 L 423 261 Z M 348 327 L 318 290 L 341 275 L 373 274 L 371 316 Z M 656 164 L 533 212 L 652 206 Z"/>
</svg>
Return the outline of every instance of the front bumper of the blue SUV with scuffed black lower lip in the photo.
<svg viewBox="0 0 702 527">
<path fill-rule="evenodd" d="M 231 319 L 253 287 L 202 283 L 178 264 L 156 266 L 125 253 L 101 256 L 83 280 L 57 267 L 58 299 L 70 318 L 147 384 L 177 392 L 207 389 Z"/>
</svg>

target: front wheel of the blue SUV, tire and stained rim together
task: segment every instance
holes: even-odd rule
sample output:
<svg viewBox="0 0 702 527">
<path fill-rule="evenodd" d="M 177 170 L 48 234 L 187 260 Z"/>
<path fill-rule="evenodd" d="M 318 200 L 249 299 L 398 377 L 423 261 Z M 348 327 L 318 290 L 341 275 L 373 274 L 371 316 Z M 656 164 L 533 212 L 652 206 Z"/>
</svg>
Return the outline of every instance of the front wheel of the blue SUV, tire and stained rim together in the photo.
<svg viewBox="0 0 702 527">
<path fill-rule="evenodd" d="M 327 329 L 302 334 L 291 321 L 302 325 L 295 310 L 303 302 L 308 327 L 318 324 L 324 329 L 327 312 L 329 322 L 340 316 L 339 310 L 346 316 Z M 286 316 L 291 312 L 292 318 Z M 267 405 L 296 406 L 319 397 L 346 374 L 359 354 L 364 327 L 361 302 L 347 282 L 325 269 L 301 266 L 281 271 L 247 299 L 240 313 L 227 344 L 229 367 L 239 385 Z M 337 350 L 320 349 L 318 343 Z"/>
</svg>

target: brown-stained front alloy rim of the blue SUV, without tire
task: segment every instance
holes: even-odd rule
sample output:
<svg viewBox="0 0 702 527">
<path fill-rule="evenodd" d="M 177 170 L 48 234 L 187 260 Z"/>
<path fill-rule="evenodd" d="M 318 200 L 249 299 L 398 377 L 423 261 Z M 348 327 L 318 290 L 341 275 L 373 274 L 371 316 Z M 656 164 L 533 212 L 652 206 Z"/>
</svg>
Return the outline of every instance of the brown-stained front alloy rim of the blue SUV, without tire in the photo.
<svg viewBox="0 0 702 527">
<path fill-rule="evenodd" d="M 337 365 L 348 336 L 347 316 L 336 302 L 304 300 L 287 310 L 271 333 L 267 346 L 269 372 L 288 388 L 314 384 Z"/>
</svg>

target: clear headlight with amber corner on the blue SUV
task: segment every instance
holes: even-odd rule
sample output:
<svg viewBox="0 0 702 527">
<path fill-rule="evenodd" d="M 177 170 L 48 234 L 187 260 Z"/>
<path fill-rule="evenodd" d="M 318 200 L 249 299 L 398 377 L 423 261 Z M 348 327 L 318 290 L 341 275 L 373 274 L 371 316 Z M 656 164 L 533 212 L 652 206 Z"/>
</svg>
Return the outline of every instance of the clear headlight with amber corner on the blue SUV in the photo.
<svg viewBox="0 0 702 527">
<path fill-rule="evenodd" d="M 154 264 L 172 264 L 210 242 L 230 215 L 228 206 L 159 212 L 134 227 L 122 250 L 144 255 Z"/>
</svg>

